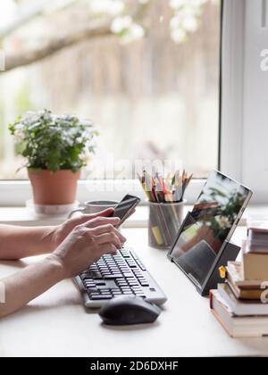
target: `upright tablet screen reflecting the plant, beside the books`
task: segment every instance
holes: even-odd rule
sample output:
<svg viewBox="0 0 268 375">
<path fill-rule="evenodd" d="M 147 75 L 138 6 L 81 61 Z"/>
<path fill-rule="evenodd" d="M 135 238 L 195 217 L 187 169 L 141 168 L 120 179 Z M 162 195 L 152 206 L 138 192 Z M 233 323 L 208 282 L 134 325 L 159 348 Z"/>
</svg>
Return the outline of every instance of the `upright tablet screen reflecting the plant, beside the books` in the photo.
<svg viewBox="0 0 268 375">
<path fill-rule="evenodd" d="M 202 285 L 241 208 L 247 187 L 213 171 L 172 248 L 172 259 Z"/>
</svg>

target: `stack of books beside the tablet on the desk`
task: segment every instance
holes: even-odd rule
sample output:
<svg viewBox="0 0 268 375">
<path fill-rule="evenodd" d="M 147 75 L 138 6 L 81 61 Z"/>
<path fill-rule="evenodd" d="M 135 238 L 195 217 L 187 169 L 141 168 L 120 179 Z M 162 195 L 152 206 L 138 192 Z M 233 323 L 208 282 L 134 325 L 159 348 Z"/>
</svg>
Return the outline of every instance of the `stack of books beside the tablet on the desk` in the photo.
<svg viewBox="0 0 268 375">
<path fill-rule="evenodd" d="M 268 335 L 268 229 L 248 229 L 242 262 L 229 262 L 211 309 L 231 337 Z"/>
</svg>

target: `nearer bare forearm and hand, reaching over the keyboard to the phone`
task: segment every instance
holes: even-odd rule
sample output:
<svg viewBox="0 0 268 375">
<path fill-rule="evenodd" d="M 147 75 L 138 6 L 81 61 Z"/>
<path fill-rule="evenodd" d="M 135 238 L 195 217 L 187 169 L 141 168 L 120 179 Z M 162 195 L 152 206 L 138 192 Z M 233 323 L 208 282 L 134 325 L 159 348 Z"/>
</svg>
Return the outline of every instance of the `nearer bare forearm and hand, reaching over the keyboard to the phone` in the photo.
<svg viewBox="0 0 268 375">
<path fill-rule="evenodd" d="M 0 281 L 0 318 L 15 312 L 63 279 L 72 278 L 103 254 L 115 254 L 125 237 L 118 218 L 97 217 L 75 227 L 53 254 Z M 26 241 L 27 242 L 27 241 Z"/>
</svg>

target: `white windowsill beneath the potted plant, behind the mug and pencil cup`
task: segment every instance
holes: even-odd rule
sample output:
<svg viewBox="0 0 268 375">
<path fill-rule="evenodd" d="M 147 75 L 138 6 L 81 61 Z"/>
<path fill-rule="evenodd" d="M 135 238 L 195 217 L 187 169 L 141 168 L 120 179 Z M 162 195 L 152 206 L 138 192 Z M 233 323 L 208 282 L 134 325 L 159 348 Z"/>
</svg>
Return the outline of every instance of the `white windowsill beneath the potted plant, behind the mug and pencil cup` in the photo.
<svg viewBox="0 0 268 375">
<path fill-rule="evenodd" d="M 185 214 L 191 210 L 191 205 L 185 206 Z M 139 206 L 136 212 L 124 223 L 124 228 L 146 228 L 147 227 L 147 206 Z M 247 220 L 267 220 L 268 205 L 252 204 L 248 206 L 239 226 L 247 225 Z M 21 226 L 57 225 L 66 220 L 64 216 L 37 215 L 29 212 L 25 207 L 4 207 L 0 208 L 0 223 Z"/>
</svg>

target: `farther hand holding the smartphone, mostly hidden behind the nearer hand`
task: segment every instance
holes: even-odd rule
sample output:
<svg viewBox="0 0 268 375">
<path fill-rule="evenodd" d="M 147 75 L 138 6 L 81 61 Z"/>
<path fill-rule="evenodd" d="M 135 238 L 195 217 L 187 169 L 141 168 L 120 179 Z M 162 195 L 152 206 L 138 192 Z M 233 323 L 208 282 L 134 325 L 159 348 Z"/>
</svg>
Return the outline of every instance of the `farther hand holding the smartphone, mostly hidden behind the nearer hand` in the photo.
<svg viewBox="0 0 268 375">
<path fill-rule="evenodd" d="M 68 221 L 63 222 L 63 224 L 55 227 L 53 229 L 52 234 L 52 243 L 53 243 L 53 249 L 57 248 L 61 245 L 63 240 L 71 233 L 71 231 L 78 227 L 79 225 L 85 224 L 88 221 L 91 221 L 93 219 L 96 219 L 97 217 L 111 217 L 113 215 L 114 209 L 108 208 L 105 211 L 97 212 L 95 214 L 82 214 L 78 217 L 74 217 L 69 219 Z"/>
</svg>

